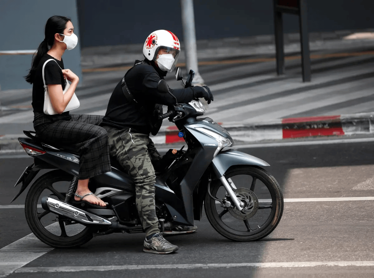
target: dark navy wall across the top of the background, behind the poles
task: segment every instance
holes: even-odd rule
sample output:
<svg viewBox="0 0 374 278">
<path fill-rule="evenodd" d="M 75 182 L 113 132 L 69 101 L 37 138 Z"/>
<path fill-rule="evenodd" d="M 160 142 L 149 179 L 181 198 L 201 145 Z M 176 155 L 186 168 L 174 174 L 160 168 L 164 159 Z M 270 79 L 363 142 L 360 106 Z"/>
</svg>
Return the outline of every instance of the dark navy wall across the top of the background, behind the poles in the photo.
<svg viewBox="0 0 374 278">
<path fill-rule="evenodd" d="M 109 3 L 109 4 L 108 4 Z M 180 0 L 78 0 L 82 47 L 141 43 L 152 31 L 171 30 L 183 40 Z M 309 31 L 374 27 L 373 0 L 307 0 Z M 195 0 L 197 39 L 273 34 L 272 0 Z M 285 32 L 298 31 L 295 15 Z"/>
</svg>

